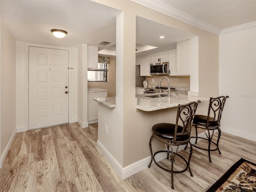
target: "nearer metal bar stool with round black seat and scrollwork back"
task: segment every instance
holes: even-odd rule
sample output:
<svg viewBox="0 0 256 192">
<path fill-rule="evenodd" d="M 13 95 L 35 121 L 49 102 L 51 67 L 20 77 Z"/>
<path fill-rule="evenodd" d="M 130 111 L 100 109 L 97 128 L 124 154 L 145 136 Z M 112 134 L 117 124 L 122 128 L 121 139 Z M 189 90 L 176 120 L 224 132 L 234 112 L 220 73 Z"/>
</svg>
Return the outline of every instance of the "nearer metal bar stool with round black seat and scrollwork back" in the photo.
<svg viewBox="0 0 256 192">
<path fill-rule="evenodd" d="M 193 151 L 192 145 L 190 144 L 190 132 L 191 132 L 191 128 L 192 128 L 192 122 L 194 119 L 194 115 L 196 113 L 196 108 L 198 106 L 198 103 L 200 103 L 200 102 L 201 101 L 198 100 L 197 102 L 190 102 L 185 105 L 179 104 L 177 117 L 176 117 L 176 124 L 158 123 L 152 127 L 153 133 L 152 133 L 152 136 L 150 137 L 150 142 L 149 142 L 150 152 L 151 152 L 151 161 L 150 161 L 150 164 L 148 165 L 148 167 L 150 168 L 150 165 L 152 164 L 152 160 L 154 160 L 154 162 L 156 163 L 156 165 L 158 167 L 160 167 L 161 169 L 163 169 L 165 171 L 171 172 L 172 189 L 174 189 L 174 185 L 173 185 L 173 174 L 174 173 L 183 173 L 186 170 L 189 170 L 190 175 L 193 176 L 193 174 L 190 170 L 190 159 L 191 159 L 192 151 Z M 153 138 L 164 143 L 166 150 L 157 151 L 153 155 L 152 147 L 151 147 L 151 141 Z M 179 146 L 186 145 L 188 143 L 190 144 L 190 155 L 189 155 L 189 158 L 187 161 L 183 156 L 181 156 L 177 152 L 178 152 Z M 171 148 L 171 150 L 169 149 L 169 147 Z M 175 152 L 173 149 L 174 147 L 177 147 Z M 164 168 L 156 162 L 155 155 L 160 152 L 166 152 L 167 159 L 169 159 L 169 157 L 170 157 L 171 169 Z M 178 157 L 180 157 L 182 160 L 184 160 L 184 162 L 186 163 L 186 168 L 184 170 L 180 170 L 180 171 L 173 170 L 173 165 L 175 162 L 174 159 L 175 159 L 176 155 Z"/>
</svg>

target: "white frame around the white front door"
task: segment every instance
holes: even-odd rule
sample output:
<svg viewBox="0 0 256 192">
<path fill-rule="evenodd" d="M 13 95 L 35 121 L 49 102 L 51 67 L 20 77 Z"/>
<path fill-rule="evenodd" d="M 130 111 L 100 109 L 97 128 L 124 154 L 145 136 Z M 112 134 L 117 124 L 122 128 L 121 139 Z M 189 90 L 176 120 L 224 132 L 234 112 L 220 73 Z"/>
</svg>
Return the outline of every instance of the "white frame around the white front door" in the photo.
<svg viewBox="0 0 256 192">
<path fill-rule="evenodd" d="M 41 48 L 50 48 L 50 49 L 62 49 L 68 50 L 68 67 L 71 66 L 71 48 L 61 47 L 61 46 L 50 46 L 44 44 L 33 44 L 26 43 L 26 68 L 25 68 L 25 131 L 28 131 L 28 47 L 41 47 Z M 68 91 L 72 90 L 71 88 L 71 70 L 68 71 Z M 68 94 L 68 122 L 71 122 L 71 94 Z"/>
</svg>

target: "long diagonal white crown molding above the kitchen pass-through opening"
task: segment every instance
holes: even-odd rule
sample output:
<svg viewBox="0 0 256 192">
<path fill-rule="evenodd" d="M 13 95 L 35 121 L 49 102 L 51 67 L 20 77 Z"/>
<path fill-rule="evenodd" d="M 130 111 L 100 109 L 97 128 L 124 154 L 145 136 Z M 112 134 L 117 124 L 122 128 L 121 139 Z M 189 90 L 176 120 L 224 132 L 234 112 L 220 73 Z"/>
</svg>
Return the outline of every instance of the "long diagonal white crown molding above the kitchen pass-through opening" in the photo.
<svg viewBox="0 0 256 192">
<path fill-rule="evenodd" d="M 188 23 L 192 26 L 198 27 L 200 29 L 206 30 L 208 32 L 211 32 L 216 35 L 220 35 L 221 30 L 219 28 L 216 28 L 210 24 L 207 24 L 206 22 L 203 22 L 197 18 L 194 18 L 193 16 L 190 16 L 189 14 L 186 14 L 176 8 L 173 8 L 171 6 L 168 6 L 158 0 L 149 1 L 149 0 L 131 0 L 132 2 L 138 3 L 142 6 L 148 7 L 150 9 L 153 9 L 155 11 L 158 11 L 160 13 L 166 14 L 172 18 L 178 19 L 180 21 L 183 21 L 185 23 Z M 149 3 L 150 2 L 150 3 Z"/>
</svg>

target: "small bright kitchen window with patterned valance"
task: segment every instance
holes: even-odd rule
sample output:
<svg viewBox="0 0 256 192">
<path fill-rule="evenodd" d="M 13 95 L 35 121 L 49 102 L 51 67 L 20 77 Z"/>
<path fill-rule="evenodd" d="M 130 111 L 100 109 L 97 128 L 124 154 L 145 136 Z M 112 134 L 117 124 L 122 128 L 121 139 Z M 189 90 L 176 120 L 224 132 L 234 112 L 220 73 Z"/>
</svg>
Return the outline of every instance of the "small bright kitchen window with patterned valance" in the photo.
<svg viewBox="0 0 256 192">
<path fill-rule="evenodd" d="M 108 82 L 108 64 L 108 57 L 98 57 L 98 68 L 87 72 L 88 82 Z"/>
</svg>

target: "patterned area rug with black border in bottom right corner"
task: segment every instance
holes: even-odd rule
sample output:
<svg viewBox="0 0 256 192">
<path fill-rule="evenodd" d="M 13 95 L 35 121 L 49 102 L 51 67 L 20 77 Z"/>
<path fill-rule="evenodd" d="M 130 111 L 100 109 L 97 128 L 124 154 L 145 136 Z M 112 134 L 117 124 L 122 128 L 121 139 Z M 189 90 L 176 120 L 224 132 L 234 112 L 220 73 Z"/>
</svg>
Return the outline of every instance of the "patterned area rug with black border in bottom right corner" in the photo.
<svg viewBox="0 0 256 192">
<path fill-rule="evenodd" d="M 238 160 L 206 192 L 256 192 L 256 164 Z"/>
</svg>

